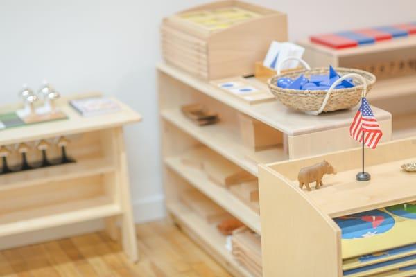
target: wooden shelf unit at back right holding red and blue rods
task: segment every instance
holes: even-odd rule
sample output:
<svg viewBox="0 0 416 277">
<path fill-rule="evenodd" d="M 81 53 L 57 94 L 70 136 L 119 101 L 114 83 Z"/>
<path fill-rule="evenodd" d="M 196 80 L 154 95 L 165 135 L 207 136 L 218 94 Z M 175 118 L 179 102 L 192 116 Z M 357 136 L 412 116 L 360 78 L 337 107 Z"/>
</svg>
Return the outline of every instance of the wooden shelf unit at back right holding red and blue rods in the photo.
<svg viewBox="0 0 416 277">
<path fill-rule="evenodd" d="M 408 124 L 415 120 L 416 111 L 415 36 L 339 50 L 307 40 L 299 44 L 306 48 L 304 59 L 312 67 L 331 64 L 372 71 L 378 80 L 368 99 L 372 105 L 392 114 L 393 139 L 416 135 L 416 127 Z M 390 66 L 394 69 L 389 69 Z"/>
</svg>

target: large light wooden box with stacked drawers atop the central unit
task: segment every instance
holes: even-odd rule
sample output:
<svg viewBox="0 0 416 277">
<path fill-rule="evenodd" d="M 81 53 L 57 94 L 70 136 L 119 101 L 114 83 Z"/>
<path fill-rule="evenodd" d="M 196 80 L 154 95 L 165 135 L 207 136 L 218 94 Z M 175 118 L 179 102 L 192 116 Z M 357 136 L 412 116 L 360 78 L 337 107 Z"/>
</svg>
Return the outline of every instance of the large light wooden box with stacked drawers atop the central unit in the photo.
<svg viewBox="0 0 416 277">
<path fill-rule="evenodd" d="M 286 14 L 242 1 L 218 1 L 164 18 L 166 62 L 205 80 L 252 75 L 272 40 L 286 41 Z"/>
</svg>

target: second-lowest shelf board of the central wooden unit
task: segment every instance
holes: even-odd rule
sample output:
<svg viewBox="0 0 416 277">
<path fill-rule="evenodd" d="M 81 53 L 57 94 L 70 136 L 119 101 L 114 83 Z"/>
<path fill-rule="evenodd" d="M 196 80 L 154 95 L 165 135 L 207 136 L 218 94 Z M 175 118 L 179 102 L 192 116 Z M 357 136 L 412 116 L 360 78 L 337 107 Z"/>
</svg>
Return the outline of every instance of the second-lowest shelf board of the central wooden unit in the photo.
<svg viewBox="0 0 416 277">
<path fill-rule="evenodd" d="M 192 186 L 200 190 L 212 199 L 216 204 L 224 208 L 228 213 L 238 218 L 256 233 L 260 233 L 260 216 L 252 211 L 234 196 L 229 190 L 214 184 L 204 172 L 196 168 L 185 166 L 180 157 L 169 157 L 165 160 L 166 165 L 186 179 Z"/>
</svg>

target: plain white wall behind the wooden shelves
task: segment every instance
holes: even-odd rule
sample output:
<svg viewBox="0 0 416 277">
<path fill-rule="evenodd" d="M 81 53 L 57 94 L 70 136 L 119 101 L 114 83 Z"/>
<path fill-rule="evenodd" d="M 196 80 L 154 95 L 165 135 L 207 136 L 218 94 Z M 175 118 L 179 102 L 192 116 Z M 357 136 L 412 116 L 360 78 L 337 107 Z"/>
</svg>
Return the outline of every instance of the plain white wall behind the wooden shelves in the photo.
<svg viewBox="0 0 416 277">
<path fill-rule="evenodd" d="M 0 104 L 46 78 L 62 94 L 103 91 L 144 116 L 126 128 L 136 220 L 163 216 L 155 63 L 159 23 L 202 0 L 0 0 Z M 252 1 L 287 12 L 290 39 L 416 21 L 416 2 Z M 272 26 L 269 26 L 272 28 Z M 1 133 L 0 133 L 1 136 Z"/>
</svg>

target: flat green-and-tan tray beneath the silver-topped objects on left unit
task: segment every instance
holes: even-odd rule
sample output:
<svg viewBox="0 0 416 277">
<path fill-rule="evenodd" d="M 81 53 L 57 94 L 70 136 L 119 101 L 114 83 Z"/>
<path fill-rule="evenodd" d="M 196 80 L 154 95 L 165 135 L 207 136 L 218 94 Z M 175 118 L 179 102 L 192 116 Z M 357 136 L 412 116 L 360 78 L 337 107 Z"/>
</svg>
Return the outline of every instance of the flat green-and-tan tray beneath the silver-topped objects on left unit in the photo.
<svg viewBox="0 0 416 277">
<path fill-rule="evenodd" d="M 6 114 L 0 114 L 0 131 L 12 127 L 19 127 L 37 123 L 45 123 L 53 120 L 67 119 L 67 115 L 62 111 L 57 111 L 53 114 L 42 114 L 36 116 L 19 116 L 17 111 L 12 111 Z"/>
</svg>

